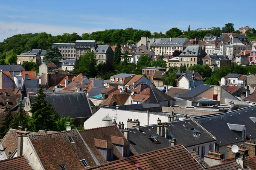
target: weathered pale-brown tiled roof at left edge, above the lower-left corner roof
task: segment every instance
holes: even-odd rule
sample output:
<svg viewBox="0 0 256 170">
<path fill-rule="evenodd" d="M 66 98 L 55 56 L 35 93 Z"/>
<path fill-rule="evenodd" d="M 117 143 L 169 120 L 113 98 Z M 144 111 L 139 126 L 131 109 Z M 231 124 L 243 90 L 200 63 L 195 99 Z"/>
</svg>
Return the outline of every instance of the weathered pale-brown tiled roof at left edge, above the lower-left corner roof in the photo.
<svg viewBox="0 0 256 170">
<path fill-rule="evenodd" d="M 37 134 L 36 132 L 30 132 L 29 135 Z M 11 151 L 11 154 L 16 150 L 17 148 L 17 130 L 16 129 L 9 129 L 9 131 L 6 133 L 0 144 L 3 145 L 3 148 L 6 148 L 4 152 L 6 153 L 6 156 L 8 155 L 8 151 Z"/>
</svg>

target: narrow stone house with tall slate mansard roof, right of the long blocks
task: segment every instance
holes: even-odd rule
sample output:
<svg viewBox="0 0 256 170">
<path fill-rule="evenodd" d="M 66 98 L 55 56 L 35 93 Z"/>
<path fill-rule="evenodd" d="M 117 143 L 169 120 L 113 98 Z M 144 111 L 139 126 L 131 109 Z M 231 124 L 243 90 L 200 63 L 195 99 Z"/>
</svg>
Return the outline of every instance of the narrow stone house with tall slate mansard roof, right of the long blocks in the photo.
<svg viewBox="0 0 256 170">
<path fill-rule="evenodd" d="M 97 65 L 101 62 L 113 63 L 114 52 L 109 44 L 98 45 L 94 53 L 96 54 Z"/>
</svg>

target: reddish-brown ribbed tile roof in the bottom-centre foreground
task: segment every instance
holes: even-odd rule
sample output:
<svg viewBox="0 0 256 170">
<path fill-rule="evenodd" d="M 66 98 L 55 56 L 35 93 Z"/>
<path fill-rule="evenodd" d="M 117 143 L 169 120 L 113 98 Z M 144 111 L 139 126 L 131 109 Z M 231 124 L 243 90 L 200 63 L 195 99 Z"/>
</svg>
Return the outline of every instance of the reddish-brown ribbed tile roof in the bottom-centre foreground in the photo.
<svg viewBox="0 0 256 170">
<path fill-rule="evenodd" d="M 178 144 L 89 168 L 90 170 L 203 170 L 195 158 Z"/>
</svg>

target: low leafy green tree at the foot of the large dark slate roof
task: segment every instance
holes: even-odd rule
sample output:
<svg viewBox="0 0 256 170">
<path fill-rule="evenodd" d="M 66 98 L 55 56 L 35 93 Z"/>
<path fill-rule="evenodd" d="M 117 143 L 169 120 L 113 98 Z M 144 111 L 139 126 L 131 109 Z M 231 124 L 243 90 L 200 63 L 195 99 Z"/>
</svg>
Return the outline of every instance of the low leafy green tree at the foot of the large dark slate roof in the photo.
<svg viewBox="0 0 256 170">
<path fill-rule="evenodd" d="M 70 123 L 70 127 L 71 129 L 78 129 L 78 130 L 83 130 L 84 127 L 82 126 L 76 126 L 74 124 L 74 120 L 70 118 L 70 116 L 68 117 L 63 117 L 63 115 L 61 116 L 61 119 L 58 119 L 55 124 L 56 124 L 56 131 L 61 132 L 61 131 L 65 131 L 66 127 L 67 127 L 67 122 Z"/>
</svg>

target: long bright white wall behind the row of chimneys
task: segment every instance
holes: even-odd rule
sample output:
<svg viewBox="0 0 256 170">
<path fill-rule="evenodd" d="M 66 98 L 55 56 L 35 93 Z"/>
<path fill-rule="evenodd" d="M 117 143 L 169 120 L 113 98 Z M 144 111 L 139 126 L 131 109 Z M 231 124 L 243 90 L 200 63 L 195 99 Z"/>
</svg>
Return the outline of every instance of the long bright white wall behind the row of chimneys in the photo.
<svg viewBox="0 0 256 170">
<path fill-rule="evenodd" d="M 148 116 L 149 114 L 149 116 Z M 146 112 L 136 112 L 136 111 L 125 111 L 125 110 L 115 110 L 113 108 L 100 108 L 99 111 L 94 113 L 89 119 L 84 122 L 84 129 L 104 127 L 105 121 L 102 121 L 105 116 L 109 116 L 112 119 L 116 119 L 116 122 L 124 122 L 125 127 L 127 127 L 128 119 L 139 119 L 140 126 L 156 124 L 157 119 L 160 118 L 163 122 L 168 122 L 168 116 L 156 114 L 156 113 L 146 113 Z M 116 118 L 115 118 L 116 117 Z"/>
</svg>

